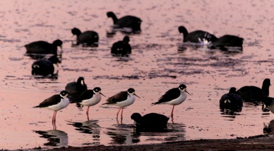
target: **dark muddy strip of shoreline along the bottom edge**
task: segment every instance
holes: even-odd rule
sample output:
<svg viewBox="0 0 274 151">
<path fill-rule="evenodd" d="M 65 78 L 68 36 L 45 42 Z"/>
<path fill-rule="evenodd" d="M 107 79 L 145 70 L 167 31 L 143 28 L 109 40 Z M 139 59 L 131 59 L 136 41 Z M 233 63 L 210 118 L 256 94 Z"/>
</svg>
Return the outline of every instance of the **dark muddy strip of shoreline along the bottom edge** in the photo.
<svg viewBox="0 0 274 151">
<path fill-rule="evenodd" d="M 156 144 L 97 145 L 84 147 L 61 147 L 46 150 L 274 150 L 274 137 L 257 135 L 234 139 L 201 139 Z M 32 148 L 39 150 L 44 148 Z"/>
</svg>

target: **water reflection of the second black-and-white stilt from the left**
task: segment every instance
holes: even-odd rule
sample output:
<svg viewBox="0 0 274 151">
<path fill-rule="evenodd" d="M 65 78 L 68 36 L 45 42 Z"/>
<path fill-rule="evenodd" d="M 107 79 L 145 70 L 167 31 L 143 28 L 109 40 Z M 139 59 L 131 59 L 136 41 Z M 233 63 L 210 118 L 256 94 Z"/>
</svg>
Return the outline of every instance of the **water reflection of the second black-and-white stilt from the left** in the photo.
<svg viewBox="0 0 274 151">
<path fill-rule="evenodd" d="M 76 127 L 75 130 L 78 130 L 81 133 L 92 134 L 92 137 L 94 138 L 93 140 L 99 142 L 101 131 L 101 126 L 98 125 L 99 120 L 88 120 L 84 122 L 67 122 L 69 122 L 68 125 Z"/>
</svg>

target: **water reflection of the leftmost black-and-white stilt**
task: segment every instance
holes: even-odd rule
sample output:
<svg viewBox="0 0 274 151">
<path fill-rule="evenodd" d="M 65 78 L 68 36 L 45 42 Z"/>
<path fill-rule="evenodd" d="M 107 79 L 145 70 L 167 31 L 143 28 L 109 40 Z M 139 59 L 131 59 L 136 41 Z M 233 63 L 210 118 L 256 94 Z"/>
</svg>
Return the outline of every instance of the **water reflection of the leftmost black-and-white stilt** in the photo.
<svg viewBox="0 0 274 151">
<path fill-rule="evenodd" d="M 48 140 L 47 143 L 44 143 L 45 146 L 58 146 L 58 147 L 67 147 L 68 146 L 68 136 L 67 133 L 61 130 L 34 130 L 34 132 L 40 134 L 42 138 Z"/>
</svg>

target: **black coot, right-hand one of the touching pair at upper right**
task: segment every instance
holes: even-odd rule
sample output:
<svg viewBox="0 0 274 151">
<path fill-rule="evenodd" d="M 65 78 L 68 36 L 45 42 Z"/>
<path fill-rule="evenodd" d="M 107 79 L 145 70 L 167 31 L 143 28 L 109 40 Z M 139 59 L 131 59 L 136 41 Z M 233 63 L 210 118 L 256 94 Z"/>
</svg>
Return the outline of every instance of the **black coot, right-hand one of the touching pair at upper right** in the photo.
<svg viewBox="0 0 274 151">
<path fill-rule="evenodd" d="M 233 35 L 224 35 L 211 43 L 211 49 L 228 50 L 230 48 L 242 50 L 243 38 Z"/>
</svg>

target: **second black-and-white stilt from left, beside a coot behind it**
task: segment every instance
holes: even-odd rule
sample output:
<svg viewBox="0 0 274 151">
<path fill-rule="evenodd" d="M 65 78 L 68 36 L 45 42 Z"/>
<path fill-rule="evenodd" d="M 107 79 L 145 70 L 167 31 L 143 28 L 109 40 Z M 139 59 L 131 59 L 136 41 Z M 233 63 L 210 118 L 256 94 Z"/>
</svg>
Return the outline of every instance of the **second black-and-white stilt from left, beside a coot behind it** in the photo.
<svg viewBox="0 0 274 151">
<path fill-rule="evenodd" d="M 87 90 L 87 91 L 83 92 L 79 96 L 80 99 L 78 101 L 74 101 L 71 103 L 79 103 L 81 105 L 87 106 L 86 115 L 88 118 L 89 107 L 98 104 L 101 101 L 101 95 L 103 95 L 101 93 L 101 88 L 96 87 L 93 90 Z M 106 97 L 106 96 L 104 96 L 104 97 Z"/>
</svg>

